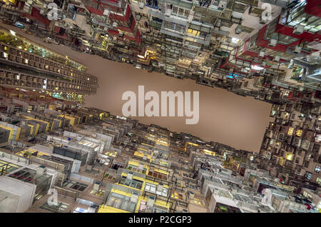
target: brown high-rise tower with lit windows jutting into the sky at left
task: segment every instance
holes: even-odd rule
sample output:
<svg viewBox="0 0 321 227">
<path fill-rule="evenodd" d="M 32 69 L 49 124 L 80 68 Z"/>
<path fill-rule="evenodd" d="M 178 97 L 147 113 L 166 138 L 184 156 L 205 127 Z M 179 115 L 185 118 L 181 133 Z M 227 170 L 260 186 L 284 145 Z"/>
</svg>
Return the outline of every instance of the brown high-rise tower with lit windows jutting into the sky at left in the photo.
<svg viewBox="0 0 321 227">
<path fill-rule="evenodd" d="M 1 32 L 2 86 L 50 93 L 54 97 L 82 101 L 96 94 L 98 79 L 76 61 L 22 40 L 14 31 Z"/>
</svg>

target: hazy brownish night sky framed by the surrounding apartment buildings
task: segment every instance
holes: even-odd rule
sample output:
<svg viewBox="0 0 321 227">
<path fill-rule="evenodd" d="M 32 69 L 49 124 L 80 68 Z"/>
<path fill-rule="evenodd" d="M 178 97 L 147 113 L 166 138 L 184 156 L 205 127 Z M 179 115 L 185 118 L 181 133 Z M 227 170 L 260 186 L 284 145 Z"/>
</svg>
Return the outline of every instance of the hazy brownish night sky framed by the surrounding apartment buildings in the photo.
<svg viewBox="0 0 321 227">
<path fill-rule="evenodd" d="M 7 27 L 12 29 L 12 27 Z M 21 30 L 14 29 L 18 34 Z M 78 61 L 88 67 L 88 73 L 98 77 L 98 91 L 85 98 L 85 106 L 91 106 L 111 114 L 122 116 L 122 100 L 125 91 L 138 95 L 138 86 L 147 91 L 199 91 L 200 119 L 197 124 L 185 124 L 183 117 L 135 117 L 141 123 L 155 123 L 170 131 L 191 133 L 205 141 L 225 143 L 237 149 L 258 152 L 268 126 L 271 105 L 253 97 L 235 95 L 224 89 L 195 84 L 192 80 L 174 79 L 158 73 L 148 73 L 130 64 L 109 61 L 99 56 L 72 51 L 66 46 L 45 44 L 39 38 L 23 34 L 36 43 Z M 192 99 L 193 100 L 193 99 Z"/>
</svg>

